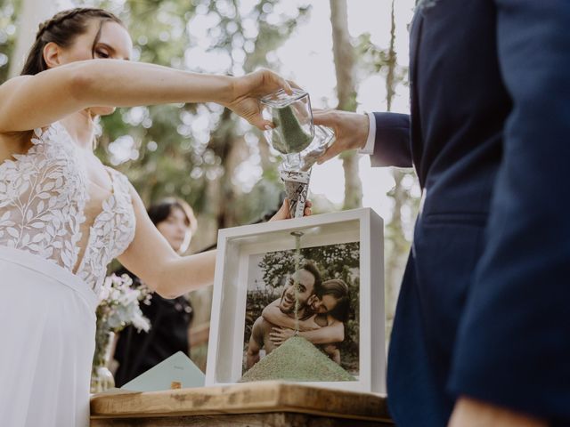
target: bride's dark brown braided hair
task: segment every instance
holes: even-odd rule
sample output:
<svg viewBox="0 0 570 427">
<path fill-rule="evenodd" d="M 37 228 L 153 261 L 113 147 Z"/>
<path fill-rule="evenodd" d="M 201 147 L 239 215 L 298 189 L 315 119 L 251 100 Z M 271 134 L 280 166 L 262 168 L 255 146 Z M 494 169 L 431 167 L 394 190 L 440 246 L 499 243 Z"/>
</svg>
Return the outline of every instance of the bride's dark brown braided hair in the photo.
<svg viewBox="0 0 570 427">
<path fill-rule="evenodd" d="M 58 12 L 50 20 L 39 24 L 36 41 L 29 50 L 28 58 L 20 75 L 35 75 L 47 69 L 44 60 L 45 44 L 53 42 L 61 47 L 69 46 L 76 36 L 85 33 L 87 24 L 94 19 L 100 20 L 101 23 L 113 21 L 124 25 L 113 13 L 102 9 L 77 7 L 76 9 Z"/>
</svg>

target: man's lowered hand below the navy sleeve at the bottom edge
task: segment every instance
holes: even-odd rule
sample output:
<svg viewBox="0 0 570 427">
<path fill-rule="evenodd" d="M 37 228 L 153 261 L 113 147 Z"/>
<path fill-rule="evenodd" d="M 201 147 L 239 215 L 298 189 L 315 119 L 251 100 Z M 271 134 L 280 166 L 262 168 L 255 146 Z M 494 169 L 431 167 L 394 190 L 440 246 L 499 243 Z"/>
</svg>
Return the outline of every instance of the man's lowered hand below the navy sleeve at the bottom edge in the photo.
<svg viewBox="0 0 570 427">
<path fill-rule="evenodd" d="M 529 415 L 464 397 L 455 404 L 448 427 L 547 427 L 547 425 L 548 423 Z"/>
</svg>

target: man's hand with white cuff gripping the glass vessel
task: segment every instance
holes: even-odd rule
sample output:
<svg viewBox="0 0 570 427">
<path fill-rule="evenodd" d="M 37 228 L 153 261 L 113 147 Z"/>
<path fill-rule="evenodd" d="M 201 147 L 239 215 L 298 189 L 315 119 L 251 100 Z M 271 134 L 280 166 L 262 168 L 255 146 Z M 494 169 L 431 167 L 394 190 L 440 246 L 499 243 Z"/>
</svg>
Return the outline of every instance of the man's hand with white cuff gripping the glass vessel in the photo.
<svg viewBox="0 0 570 427">
<path fill-rule="evenodd" d="M 335 133 L 335 141 L 319 158 L 321 165 L 332 157 L 348 149 L 362 149 L 368 139 L 369 118 L 366 114 L 339 110 L 314 110 L 315 125 L 330 127 Z"/>
</svg>

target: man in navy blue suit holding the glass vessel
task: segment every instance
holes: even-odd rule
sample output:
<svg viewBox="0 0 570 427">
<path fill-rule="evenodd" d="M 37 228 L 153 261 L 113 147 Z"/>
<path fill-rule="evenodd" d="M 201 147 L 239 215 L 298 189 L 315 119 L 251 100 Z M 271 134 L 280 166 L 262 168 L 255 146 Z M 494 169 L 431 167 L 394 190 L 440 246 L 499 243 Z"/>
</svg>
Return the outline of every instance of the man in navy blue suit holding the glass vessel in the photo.
<svg viewBox="0 0 570 427">
<path fill-rule="evenodd" d="M 569 425 L 570 1 L 419 2 L 410 83 L 410 116 L 314 117 L 338 138 L 322 161 L 369 149 L 423 189 L 388 355 L 395 422 Z"/>
</svg>

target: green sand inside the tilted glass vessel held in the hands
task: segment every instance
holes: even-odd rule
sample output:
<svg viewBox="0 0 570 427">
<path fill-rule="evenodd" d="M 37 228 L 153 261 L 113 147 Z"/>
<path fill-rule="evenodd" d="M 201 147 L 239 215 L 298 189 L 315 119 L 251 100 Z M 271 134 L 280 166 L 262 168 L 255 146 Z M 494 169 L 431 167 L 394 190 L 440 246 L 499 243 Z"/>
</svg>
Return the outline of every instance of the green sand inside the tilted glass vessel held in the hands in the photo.
<svg viewBox="0 0 570 427">
<path fill-rule="evenodd" d="M 291 106 L 273 109 L 273 148 L 282 154 L 300 153 L 313 137 L 305 133 Z"/>
</svg>

